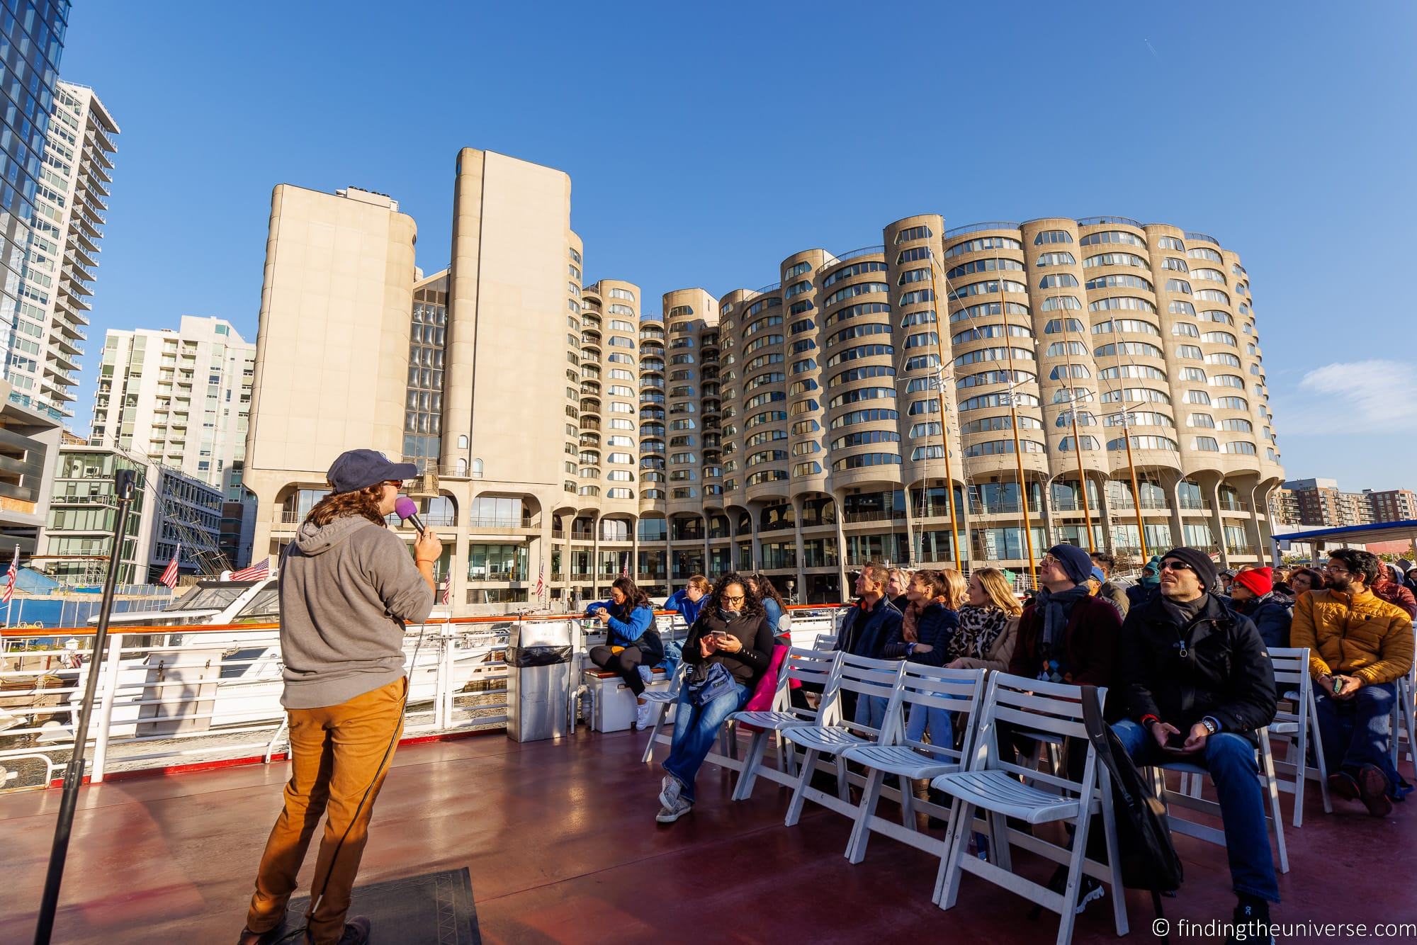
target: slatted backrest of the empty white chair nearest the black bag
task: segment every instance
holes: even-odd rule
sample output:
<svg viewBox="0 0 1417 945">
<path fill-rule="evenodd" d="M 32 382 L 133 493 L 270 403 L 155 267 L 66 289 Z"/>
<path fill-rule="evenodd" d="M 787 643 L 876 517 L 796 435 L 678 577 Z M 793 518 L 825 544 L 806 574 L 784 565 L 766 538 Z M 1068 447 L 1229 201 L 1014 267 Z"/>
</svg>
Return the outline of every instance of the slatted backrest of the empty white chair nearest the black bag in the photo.
<svg viewBox="0 0 1417 945">
<path fill-rule="evenodd" d="M 1107 701 L 1107 690 L 1098 687 L 1097 698 Z M 1022 735 L 1063 735 L 1081 740 L 1087 745 L 1087 765 L 1083 782 L 1044 774 L 1013 761 L 1013 745 L 999 744 L 999 724 Z M 1007 771 L 1030 781 L 1041 781 L 1054 788 L 1081 792 L 1095 782 L 1095 754 L 1083 721 L 1083 687 L 1049 683 L 1007 673 L 990 673 L 983 707 L 979 710 L 979 730 L 975 734 L 971 771 Z M 1088 788 L 1091 791 L 1091 788 Z"/>
</svg>

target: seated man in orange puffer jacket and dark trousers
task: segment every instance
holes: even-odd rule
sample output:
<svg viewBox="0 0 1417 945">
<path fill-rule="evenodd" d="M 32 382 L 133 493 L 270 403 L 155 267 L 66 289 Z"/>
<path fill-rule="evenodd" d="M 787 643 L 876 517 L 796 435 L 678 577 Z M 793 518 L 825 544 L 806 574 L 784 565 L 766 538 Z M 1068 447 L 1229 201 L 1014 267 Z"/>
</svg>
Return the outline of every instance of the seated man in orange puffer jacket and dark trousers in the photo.
<svg viewBox="0 0 1417 945">
<path fill-rule="evenodd" d="M 1411 619 L 1369 589 L 1380 567 L 1369 551 L 1331 553 L 1328 588 L 1299 595 L 1289 629 L 1294 646 L 1309 647 L 1329 791 L 1374 817 L 1393 809 L 1389 728 L 1396 683 L 1413 664 Z"/>
</svg>

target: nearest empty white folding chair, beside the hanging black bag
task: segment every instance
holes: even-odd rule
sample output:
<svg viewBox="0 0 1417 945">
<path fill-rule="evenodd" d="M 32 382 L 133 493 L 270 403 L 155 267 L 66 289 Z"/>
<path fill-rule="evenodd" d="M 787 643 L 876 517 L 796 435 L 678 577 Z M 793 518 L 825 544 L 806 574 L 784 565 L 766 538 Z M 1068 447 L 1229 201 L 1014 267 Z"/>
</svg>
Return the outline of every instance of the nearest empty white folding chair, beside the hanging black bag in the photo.
<svg viewBox="0 0 1417 945">
<path fill-rule="evenodd" d="M 1083 691 L 1077 686 L 1046 683 L 1022 676 L 992 673 L 979 730 L 975 735 L 969 769 L 939 775 L 931 785 L 954 798 L 945 857 L 939 861 L 934 901 L 942 910 L 954 908 L 959 895 L 959 877 L 973 873 L 995 885 L 1043 905 L 1061 918 L 1057 942 L 1073 938 L 1077 898 L 1083 876 L 1111 885 L 1112 919 L 1117 934 L 1127 935 L 1127 895 L 1122 891 L 1121 857 L 1112 819 L 1112 781 L 1098 765 L 1093 742 L 1083 721 Z M 1098 690 L 1098 700 L 1105 690 Z M 1036 771 L 1015 764 L 1013 747 L 999 745 L 999 724 L 1026 735 L 1054 734 L 1081 740 L 1087 745 L 1083 779 Z M 1009 759 L 1009 761 L 1006 761 Z M 1100 776 L 1101 775 L 1101 776 Z M 990 825 L 989 860 L 969 856 L 965 844 L 973 830 L 975 812 L 988 815 Z M 1087 859 L 1087 837 L 1094 816 L 1101 816 L 1107 840 L 1107 863 Z M 1016 817 L 1030 825 L 1074 822 L 1071 850 L 1049 843 L 1023 830 L 1009 827 Z M 1016 846 L 1067 867 L 1063 893 L 1027 880 L 1012 870 L 1009 847 Z"/>
</svg>

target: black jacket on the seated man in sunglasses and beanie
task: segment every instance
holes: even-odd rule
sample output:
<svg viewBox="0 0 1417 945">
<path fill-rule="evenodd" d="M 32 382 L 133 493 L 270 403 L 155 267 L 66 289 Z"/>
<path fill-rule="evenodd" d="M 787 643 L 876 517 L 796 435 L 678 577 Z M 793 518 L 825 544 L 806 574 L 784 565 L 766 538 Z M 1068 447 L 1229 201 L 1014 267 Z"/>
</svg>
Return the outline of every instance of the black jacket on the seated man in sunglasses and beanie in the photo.
<svg viewBox="0 0 1417 945">
<path fill-rule="evenodd" d="M 1122 625 L 1119 677 L 1134 721 L 1156 715 L 1187 734 L 1210 715 L 1220 731 L 1254 744 L 1254 731 L 1274 721 L 1274 667 L 1260 630 L 1214 594 L 1186 626 L 1159 594 L 1134 606 Z"/>
</svg>

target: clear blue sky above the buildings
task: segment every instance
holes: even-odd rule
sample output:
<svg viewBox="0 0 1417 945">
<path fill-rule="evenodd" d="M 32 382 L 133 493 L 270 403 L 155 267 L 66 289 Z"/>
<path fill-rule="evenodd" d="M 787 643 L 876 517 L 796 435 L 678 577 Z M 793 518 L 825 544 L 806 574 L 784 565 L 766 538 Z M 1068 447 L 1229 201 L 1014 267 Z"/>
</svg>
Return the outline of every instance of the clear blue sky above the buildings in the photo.
<svg viewBox="0 0 1417 945">
<path fill-rule="evenodd" d="M 255 337 L 278 183 L 393 194 L 446 265 L 473 146 L 570 173 L 587 281 L 648 299 L 915 213 L 1209 232 L 1250 272 L 1288 475 L 1417 487 L 1414 27 L 1404 3 L 77 0 L 61 72 L 123 133 L 75 424 L 109 327 Z"/>
</svg>

